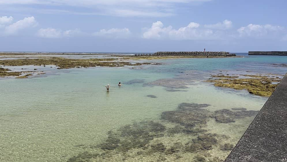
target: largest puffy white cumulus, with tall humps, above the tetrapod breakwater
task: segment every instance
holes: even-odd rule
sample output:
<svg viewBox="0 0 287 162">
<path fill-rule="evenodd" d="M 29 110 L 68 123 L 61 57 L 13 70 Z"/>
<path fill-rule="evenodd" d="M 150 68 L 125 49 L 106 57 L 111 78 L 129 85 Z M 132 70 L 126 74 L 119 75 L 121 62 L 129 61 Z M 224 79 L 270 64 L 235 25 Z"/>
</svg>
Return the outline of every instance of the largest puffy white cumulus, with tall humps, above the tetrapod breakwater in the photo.
<svg viewBox="0 0 287 162">
<path fill-rule="evenodd" d="M 190 22 L 186 27 L 172 29 L 172 26 L 164 27 L 161 21 L 154 22 L 151 28 L 142 35 L 145 39 L 175 39 L 175 40 L 213 40 L 221 39 L 219 32 L 211 29 L 200 28 L 195 22 Z"/>
</svg>

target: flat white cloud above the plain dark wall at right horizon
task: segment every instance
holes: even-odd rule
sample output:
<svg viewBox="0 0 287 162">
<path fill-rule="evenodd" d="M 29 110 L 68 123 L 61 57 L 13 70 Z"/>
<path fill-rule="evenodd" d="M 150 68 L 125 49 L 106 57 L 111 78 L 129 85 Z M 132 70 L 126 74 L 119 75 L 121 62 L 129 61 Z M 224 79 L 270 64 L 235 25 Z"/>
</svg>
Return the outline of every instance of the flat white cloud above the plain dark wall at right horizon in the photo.
<svg viewBox="0 0 287 162">
<path fill-rule="evenodd" d="M 270 24 L 267 25 L 249 24 L 246 27 L 241 27 L 237 29 L 237 32 L 241 37 L 242 36 L 262 37 L 268 34 L 276 34 L 282 31 L 284 31 L 283 27 L 273 26 Z"/>
</svg>

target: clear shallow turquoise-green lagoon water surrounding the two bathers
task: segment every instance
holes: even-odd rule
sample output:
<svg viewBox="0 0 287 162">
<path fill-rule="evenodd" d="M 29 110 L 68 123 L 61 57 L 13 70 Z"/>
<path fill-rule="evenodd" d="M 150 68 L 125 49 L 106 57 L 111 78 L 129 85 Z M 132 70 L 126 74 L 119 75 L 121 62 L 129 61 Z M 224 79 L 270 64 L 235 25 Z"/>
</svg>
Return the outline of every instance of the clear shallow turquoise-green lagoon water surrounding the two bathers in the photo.
<svg viewBox="0 0 287 162">
<path fill-rule="evenodd" d="M 260 110 L 266 97 L 250 95 L 247 91 L 216 88 L 202 80 L 219 70 L 263 74 L 285 74 L 287 71 L 286 67 L 272 65 L 287 63 L 287 58 L 280 56 L 156 62 L 164 64 L 141 66 L 142 69 L 69 69 L 59 70 L 59 75 L 43 78 L 0 80 L 0 161 L 67 161 L 84 152 L 88 152 L 84 155 L 106 152 L 106 155 L 86 158 L 90 161 L 195 161 L 197 154 L 205 156 L 206 160 L 224 159 L 229 152 L 220 150 L 220 145 L 236 144 L 254 116 L 237 118 L 233 123 L 218 123 L 212 117 L 202 119 L 207 123 L 200 125 L 202 123 L 199 122 L 196 128 L 207 132 L 199 135 L 216 133 L 218 135 L 214 138 L 217 144 L 212 144 L 209 150 L 191 152 L 186 147 L 190 145 L 186 144 L 192 143 L 198 134 L 169 133 L 171 128 L 180 125 L 163 119 L 163 112 L 175 111 L 181 103 L 209 104 L 202 108 L 206 110 L 203 113 L 207 114 L 231 108 Z M 167 82 L 160 82 L 162 86 L 148 86 L 155 80 L 171 78 L 176 82 L 188 82 L 188 88 L 170 88 L 172 85 Z M 131 81 L 133 79 L 141 80 L 134 83 Z M 119 81 L 123 83 L 121 88 L 117 86 Z M 112 86 L 109 93 L 104 87 L 108 83 Z M 167 89 L 183 91 L 170 92 Z M 196 115 L 200 117 L 202 114 Z M 159 127 L 155 126 L 157 122 L 164 126 L 164 130 L 159 131 L 163 135 L 158 135 L 157 129 L 147 130 Z M 132 128 L 132 131 L 128 128 Z M 110 147 L 114 143 L 121 143 L 107 143 L 115 136 L 109 131 L 126 132 L 127 135 L 119 137 L 121 141 L 138 139 L 133 134 L 135 132 L 142 133 L 140 140 L 150 137 L 144 136 L 145 132 L 156 135 L 148 140 L 147 148 L 132 147 L 125 142 L 132 148 L 107 152 L 101 149 L 103 144 Z M 193 142 L 193 145 L 197 144 Z M 167 154 L 167 150 L 177 143 L 183 146 L 177 152 Z M 165 152 L 160 151 L 161 147 L 153 147 L 153 144 L 163 144 Z"/>
</svg>

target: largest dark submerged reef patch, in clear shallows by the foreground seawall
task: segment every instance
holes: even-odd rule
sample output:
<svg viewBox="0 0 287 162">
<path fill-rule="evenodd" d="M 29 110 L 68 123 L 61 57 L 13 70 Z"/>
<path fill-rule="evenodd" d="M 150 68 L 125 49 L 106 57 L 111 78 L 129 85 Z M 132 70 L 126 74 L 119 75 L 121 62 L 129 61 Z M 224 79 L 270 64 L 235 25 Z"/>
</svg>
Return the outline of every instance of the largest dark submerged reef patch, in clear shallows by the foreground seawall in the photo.
<svg viewBox="0 0 287 162">
<path fill-rule="evenodd" d="M 162 112 L 162 122 L 147 120 L 108 131 L 108 137 L 100 144 L 75 146 L 95 149 L 97 154 L 83 152 L 71 157 L 68 161 L 109 161 L 114 156 L 119 156 L 123 161 L 131 159 L 136 161 L 139 157 L 147 156 L 153 156 L 155 161 L 165 161 L 168 157 L 180 159 L 183 152 L 195 153 L 194 161 L 210 160 L 211 155 L 208 150 L 212 150 L 214 146 L 220 147 L 223 151 L 230 151 L 233 145 L 228 143 L 220 145 L 221 140 L 228 137 L 207 133 L 204 129 L 207 121 L 215 118 L 219 123 L 230 123 L 234 122 L 234 119 L 254 116 L 258 111 L 222 109 L 212 112 L 205 109 L 208 106 L 210 105 L 181 103 L 175 111 Z M 165 121 L 174 126 L 166 128 L 162 124 Z M 162 137 L 170 138 L 175 134 L 190 136 L 190 139 L 185 142 L 172 143 L 165 143 L 161 139 Z M 214 160 L 222 161 L 220 158 Z"/>
</svg>

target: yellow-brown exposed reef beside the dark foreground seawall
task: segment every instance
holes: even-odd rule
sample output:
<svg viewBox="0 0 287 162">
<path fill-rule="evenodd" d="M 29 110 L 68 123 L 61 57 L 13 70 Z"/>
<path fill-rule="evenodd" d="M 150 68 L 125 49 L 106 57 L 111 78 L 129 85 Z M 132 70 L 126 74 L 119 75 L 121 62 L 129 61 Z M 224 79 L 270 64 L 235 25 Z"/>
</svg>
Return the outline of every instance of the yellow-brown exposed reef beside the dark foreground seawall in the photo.
<svg viewBox="0 0 287 162">
<path fill-rule="evenodd" d="M 234 88 L 237 90 L 246 89 L 249 93 L 269 97 L 282 79 L 278 76 L 263 75 L 239 75 L 238 76 L 213 76 L 217 77 L 213 82 L 215 86 Z M 236 78 L 236 79 L 232 79 Z M 275 84 L 274 84 L 275 83 Z"/>
</svg>

